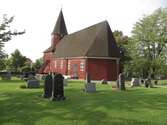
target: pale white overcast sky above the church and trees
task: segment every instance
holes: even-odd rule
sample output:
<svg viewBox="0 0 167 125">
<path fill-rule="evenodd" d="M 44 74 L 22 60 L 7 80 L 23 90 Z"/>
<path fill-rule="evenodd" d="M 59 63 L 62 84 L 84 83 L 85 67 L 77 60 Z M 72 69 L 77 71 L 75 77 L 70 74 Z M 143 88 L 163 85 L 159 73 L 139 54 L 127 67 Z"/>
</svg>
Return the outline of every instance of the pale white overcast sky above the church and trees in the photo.
<svg viewBox="0 0 167 125">
<path fill-rule="evenodd" d="M 68 33 L 107 20 L 112 31 L 131 35 L 136 21 L 160 7 L 167 7 L 167 0 L 0 0 L 0 17 L 15 16 L 12 29 L 26 30 L 4 49 L 8 54 L 19 49 L 33 61 L 42 57 L 61 8 Z"/>
</svg>

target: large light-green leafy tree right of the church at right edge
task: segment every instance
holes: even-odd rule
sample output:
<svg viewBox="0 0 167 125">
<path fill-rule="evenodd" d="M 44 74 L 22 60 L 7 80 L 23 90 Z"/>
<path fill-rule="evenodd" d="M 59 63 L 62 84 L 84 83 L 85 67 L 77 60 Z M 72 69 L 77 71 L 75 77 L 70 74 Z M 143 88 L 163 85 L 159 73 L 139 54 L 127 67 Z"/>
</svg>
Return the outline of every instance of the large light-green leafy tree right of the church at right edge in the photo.
<svg viewBox="0 0 167 125">
<path fill-rule="evenodd" d="M 162 73 L 167 58 L 167 9 L 160 8 L 139 20 L 128 48 L 133 73 L 152 78 Z"/>
</svg>

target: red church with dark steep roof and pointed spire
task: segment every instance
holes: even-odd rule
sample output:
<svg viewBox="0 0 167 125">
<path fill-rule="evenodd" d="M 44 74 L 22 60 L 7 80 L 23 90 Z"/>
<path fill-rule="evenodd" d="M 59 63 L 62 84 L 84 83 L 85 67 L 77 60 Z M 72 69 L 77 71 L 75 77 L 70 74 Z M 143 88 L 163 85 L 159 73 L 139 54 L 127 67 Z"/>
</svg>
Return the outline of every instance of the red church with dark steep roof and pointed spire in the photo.
<svg viewBox="0 0 167 125">
<path fill-rule="evenodd" d="M 62 10 L 52 32 L 51 46 L 44 51 L 40 73 L 56 72 L 84 79 L 116 80 L 120 53 L 107 21 L 67 33 Z"/>
</svg>

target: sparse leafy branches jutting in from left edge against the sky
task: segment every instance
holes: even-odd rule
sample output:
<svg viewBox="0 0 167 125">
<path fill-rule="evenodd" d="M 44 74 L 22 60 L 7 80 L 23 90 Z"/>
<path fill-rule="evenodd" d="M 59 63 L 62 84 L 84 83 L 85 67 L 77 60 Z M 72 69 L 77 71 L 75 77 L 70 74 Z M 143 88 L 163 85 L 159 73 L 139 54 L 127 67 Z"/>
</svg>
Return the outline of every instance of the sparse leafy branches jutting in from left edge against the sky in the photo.
<svg viewBox="0 0 167 125">
<path fill-rule="evenodd" d="M 4 43 L 11 40 L 12 36 L 22 35 L 25 31 L 18 32 L 17 30 L 12 31 L 10 24 L 13 22 L 14 17 L 8 18 L 7 15 L 3 15 L 2 22 L 0 22 L 0 59 L 6 56 L 3 47 Z"/>
</svg>

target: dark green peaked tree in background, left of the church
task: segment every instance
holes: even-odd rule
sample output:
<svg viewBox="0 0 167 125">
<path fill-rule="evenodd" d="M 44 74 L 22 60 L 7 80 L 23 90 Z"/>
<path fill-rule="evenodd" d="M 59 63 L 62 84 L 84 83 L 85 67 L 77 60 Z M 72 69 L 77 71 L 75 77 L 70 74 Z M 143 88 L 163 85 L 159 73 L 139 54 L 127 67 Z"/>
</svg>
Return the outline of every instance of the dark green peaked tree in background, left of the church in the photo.
<svg viewBox="0 0 167 125">
<path fill-rule="evenodd" d="M 26 64 L 26 57 L 23 56 L 18 49 L 16 49 L 10 57 L 11 68 L 15 72 L 20 72 L 21 68 Z"/>
</svg>

